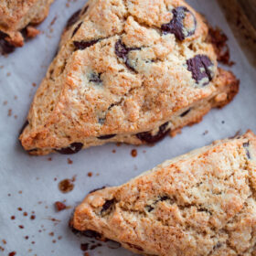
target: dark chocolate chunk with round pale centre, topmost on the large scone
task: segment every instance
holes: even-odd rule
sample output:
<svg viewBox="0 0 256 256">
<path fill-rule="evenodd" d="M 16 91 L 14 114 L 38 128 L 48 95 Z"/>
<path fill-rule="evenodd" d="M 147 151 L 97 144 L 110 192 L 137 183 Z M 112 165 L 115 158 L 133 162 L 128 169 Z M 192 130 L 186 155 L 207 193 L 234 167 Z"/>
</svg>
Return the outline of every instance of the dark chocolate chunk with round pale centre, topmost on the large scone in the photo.
<svg viewBox="0 0 256 256">
<path fill-rule="evenodd" d="M 178 6 L 172 11 L 173 19 L 162 25 L 161 29 L 164 34 L 174 34 L 176 38 L 180 41 L 184 40 L 186 37 L 190 37 L 195 34 L 197 27 L 197 19 L 185 6 Z M 184 25 L 184 20 L 187 15 L 191 15 L 194 20 L 192 28 L 187 28 Z"/>
</svg>

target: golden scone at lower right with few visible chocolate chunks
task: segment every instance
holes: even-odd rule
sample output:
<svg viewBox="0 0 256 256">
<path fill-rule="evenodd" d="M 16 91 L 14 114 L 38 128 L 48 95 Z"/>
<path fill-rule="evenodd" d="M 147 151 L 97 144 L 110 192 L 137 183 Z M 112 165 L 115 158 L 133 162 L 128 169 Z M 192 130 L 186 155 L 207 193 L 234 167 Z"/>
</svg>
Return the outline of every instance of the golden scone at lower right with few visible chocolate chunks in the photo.
<svg viewBox="0 0 256 256">
<path fill-rule="evenodd" d="M 256 255 L 256 136 L 178 156 L 89 194 L 71 227 L 144 255 Z"/>
</svg>

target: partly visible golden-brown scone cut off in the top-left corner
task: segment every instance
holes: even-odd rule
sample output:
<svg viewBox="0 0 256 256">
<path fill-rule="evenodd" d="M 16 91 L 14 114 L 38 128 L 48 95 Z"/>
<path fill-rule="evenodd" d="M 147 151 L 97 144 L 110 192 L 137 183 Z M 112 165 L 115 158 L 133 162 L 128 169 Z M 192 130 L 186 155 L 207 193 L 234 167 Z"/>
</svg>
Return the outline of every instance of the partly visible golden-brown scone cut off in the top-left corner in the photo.
<svg viewBox="0 0 256 256">
<path fill-rule="evenodd" d="M 0 1 L 0 47 L 5 53 L 22 47 L 24 37 L 35 37 L 35 25 L 48 16 L 54 0 L 3 0 Z"/>
</svg>

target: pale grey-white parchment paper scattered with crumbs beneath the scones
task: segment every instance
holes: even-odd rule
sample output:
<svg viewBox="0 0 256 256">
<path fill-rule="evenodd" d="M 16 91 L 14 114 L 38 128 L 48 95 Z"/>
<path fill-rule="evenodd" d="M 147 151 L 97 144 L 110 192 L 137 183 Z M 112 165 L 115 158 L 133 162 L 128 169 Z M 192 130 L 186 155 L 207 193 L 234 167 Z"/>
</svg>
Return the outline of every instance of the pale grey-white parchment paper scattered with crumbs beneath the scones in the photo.
<svg viewBox="0 0 256 256">
<path fill-rule="evenodd" d="M 17 141 L 18 131 L 56 52 L 62 28 L 68 17 L 85 2 L 69 1 L 66 5 L 66 1 L 57 0 L 39 27 L 42 35 L 7 58 L 0 57 L 0 255 L 8 255 L 11 251 L 21 256 L 83 255 L 80 244 L 88 239 L 78 238 L 68 228 L 73 208 L 56 212 L 56 201 L 66 200 L 68 206 L 77 205 L 92 189 L 123 184 L 165 159 L 238 131 L 244 133 L 250 128 L 256 133 L 255 68 L 232 36 L 217 1 L 191 0 L 187 2 L 203 13 L 210 24 L 223 28 L 229 37 L 231 57 L 236 62 L 232 69 L 241 81 L 240 93 L 234 101 L 223 110 L 210 112 L 202 123 L 185 128 L 182 134 L 165 138 L 154 147 L 107 144 L 77 155 L 27 155 Z M 136 157 L 131 155 L 134 148 Z M 88 176 L 90 172 L 91 177 Z M 59 181 L 73 176 L 76 176 L 74 189 L 62 194 Z M 31 215 L 36 219 L 30 219 Z M 15 219 L 11 219 L 12 216 Z M 110 249 L 105 243 L 89 253 L 95 256 L 133 255 L 121 248 Z"/>
</svg>

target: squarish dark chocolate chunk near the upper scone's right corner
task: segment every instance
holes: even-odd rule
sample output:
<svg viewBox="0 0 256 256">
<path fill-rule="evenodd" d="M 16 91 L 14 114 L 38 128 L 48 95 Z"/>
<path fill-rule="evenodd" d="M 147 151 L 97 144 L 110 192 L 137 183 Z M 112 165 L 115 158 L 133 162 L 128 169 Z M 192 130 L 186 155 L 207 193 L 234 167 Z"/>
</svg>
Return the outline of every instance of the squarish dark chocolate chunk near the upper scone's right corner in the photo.
<svg viewBox="0 0 256 256">
<path fill-rule="evenodd" d="M 206 55 L 197 55 L 192 59 L 187 59 L 187 69 L 192 72 L 192 78 L 197 81 L 205 80 L 203 86 L 213 79 L 213 73 L 210 70 L 213 68 L 213 63 Z"/>
</svg>

